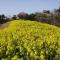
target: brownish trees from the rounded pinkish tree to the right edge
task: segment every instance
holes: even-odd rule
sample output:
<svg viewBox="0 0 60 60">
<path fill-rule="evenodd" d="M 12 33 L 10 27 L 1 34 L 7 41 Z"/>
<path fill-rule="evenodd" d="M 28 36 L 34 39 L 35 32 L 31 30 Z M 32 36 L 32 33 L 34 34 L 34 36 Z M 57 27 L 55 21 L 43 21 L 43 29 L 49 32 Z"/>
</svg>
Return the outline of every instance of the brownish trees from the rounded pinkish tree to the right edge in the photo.
<svg viewBox="0 0 60 60">
<path fill-rule="evenodd" d="M 60 27 L 60 7 L 53 12 L 50 10 L 43 10 L 43 12 L 35 12 L 31 14 L 21 12 L 17 16 L 19 19 L 34 20 Z"/>
</svg>

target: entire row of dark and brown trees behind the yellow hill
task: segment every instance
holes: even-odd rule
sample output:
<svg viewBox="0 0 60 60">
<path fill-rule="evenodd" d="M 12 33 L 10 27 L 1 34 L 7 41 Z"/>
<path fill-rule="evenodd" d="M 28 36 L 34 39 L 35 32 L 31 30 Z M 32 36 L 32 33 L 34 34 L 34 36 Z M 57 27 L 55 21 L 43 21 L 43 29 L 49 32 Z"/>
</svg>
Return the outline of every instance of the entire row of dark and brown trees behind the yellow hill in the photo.
<svg viewBox="0 0 60 60">
<path fill-rule="evenodd" d="M 50 10 L 43 10 L 43 12 L 35 12 L 31 14 L 28 14 L 26 12 L 20 12 L 16 15 L 13 15 L 11 18 L 6 17 L 4 14 L 0 15 L 0 23 L 20 19 L 39 21 L 42 23 L 60 26 L 60 7 L 58 9 L 54 9 L 53 12 L 51 12 Z"/>
</svg>

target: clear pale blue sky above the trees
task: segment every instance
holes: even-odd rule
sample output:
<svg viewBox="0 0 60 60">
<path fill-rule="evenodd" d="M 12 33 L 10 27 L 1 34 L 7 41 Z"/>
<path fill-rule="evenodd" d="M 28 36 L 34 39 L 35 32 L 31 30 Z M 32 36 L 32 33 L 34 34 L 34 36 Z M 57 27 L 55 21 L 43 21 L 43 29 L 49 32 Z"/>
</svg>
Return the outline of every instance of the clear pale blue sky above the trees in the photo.
<svg viewBox="0 0 60 60">
<path fill-rule="evenodd" d="M 43 10 L 53 10 L 59 6 L 60 0 L 0 0 L 0 14 L 34 13 Z"/>
</svg>

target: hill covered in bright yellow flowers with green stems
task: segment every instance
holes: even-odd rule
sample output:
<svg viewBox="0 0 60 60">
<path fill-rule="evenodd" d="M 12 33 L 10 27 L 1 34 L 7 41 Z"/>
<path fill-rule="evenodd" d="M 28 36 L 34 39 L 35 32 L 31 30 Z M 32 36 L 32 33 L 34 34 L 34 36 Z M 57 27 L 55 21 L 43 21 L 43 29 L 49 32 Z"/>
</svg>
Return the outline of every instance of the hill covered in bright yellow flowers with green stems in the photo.
<svg viewBox="0 0 60 60">
<path fill-rule="evenodd" d="M 10 21 L 0 28 L 0 60 L 60 60 L 60 28 L 36 21 Z"/>
</svg>

